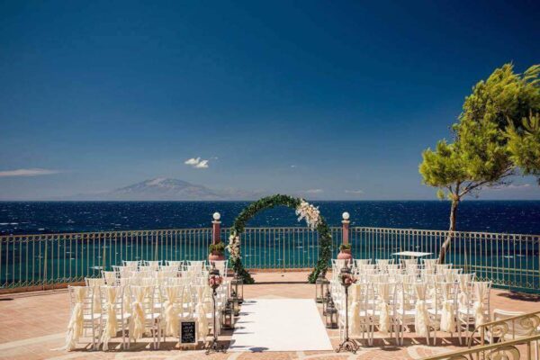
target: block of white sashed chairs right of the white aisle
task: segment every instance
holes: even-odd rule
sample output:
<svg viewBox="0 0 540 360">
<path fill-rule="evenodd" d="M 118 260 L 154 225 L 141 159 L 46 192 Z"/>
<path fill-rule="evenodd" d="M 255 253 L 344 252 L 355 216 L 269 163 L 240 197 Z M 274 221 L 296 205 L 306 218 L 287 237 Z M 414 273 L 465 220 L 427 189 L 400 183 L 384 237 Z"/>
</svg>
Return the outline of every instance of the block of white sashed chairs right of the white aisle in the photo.
<svg viewBox="0 0 540 360">
<path fill-rule="evenodd" d="M 356 266 L 369 265 L 357 263 Z M 343 336 L 345 294 L 338 279 L 339 266 L 337 262 L 333 265 L 330 289 L 338 307 Z M 437 340 L 437 330 L 451 336 L 457 332 L 461 342 L 463 333 L 468 334 L 471 326 L 490 319 L 491 283 L 474 281 L 474 274 L 462 274 L 461 269 L 450 266 L 441 268 L 439 274 L 421 270 L 408 273 L 407 267 L 392 274 L 392 267 L 385 266 L 377 267 L 374 274 L 358 272 L 356 284 L 350 288 L 349 328 L 353 334 L 368 338 L 370 344 L 374 329 L 390 333 L 396 343 L 402 344 L 403 331 L 410 326 L 415 326 L 417 334 L 426 337 L 428 344 L 432 331 L 434 342 Z"/>
</svg>

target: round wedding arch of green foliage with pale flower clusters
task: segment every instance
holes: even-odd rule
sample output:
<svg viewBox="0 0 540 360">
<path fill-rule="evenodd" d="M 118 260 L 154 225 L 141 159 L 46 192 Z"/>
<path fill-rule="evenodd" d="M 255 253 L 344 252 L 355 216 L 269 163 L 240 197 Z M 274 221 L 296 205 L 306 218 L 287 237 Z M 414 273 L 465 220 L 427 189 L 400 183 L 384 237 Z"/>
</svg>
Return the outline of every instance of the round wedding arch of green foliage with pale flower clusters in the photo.
<svg viewBox="0 0 540 360">
<path fill-rule="evenodd" d="M 296 198 L 289 195 L 276 194 L 266 196 L 257 202 L 250 203 L 242 210 L 238 217 L 234 220 L 230 228 L 229 259 L 234 271 L 242 276 L 244 284 L 253 284 L 255 280 L 242 265 L 242 257 L 240 252 L 240 236 L 246 228 L 247 221 L 253 218 L 259 211 L 274 208 L 275 206 L 287 206 L 293 208 L 298 215 L 298 220 L 305 220 L 308 227 L 317 229 L 319 233 L 319 260 L 317 265 L 308 277 L 310 283 L 315 283 L 315 280 L 320 273 L 326 273 L 330 257 L 332 256 L 332 236 L 329 226 L 324 218 L 320 215 L 319 208 L 311 205 L 309 202 L 301 198 Z"/>
</svg>

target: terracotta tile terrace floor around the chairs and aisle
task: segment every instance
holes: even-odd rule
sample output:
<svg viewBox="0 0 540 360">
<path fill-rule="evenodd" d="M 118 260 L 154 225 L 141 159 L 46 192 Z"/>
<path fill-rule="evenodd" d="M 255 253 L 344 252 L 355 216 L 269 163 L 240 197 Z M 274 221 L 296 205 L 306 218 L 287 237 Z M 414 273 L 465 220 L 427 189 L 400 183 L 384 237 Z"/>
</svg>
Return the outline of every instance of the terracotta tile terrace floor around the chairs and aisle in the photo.
<svg viewBox="0 0 540 360">
<path fill-rule="evenodd" d="M 306 284 L 306 272 L 258 273 L 257 284 L 245 286 L 245 298 L 313 298 L 315 287 Z M 491 310 L 537 311 L 538 298 L 526 298 L 500 290 L 491 292 Z M 148 341 L 131 345 L 130 351 L 113 350 L 107 353 L 89 351 L 81 343 L 80 349 L 67 353 L 58 348 L 64 345 L 69 318 L 67 292 L 24 293 L 0 296 L 0 358 L 1 359 L 418 359 L 457 347 L 452 338 L 440 338 L 437 347 L 428 347 L 423 338 L 411 338 L 405 334 L 405 346 L 395 347 L 392 340 L 376 338 L 374 347 L 362 347 L 355 355 L 334 352 L 290 353 L 227 353 L 205 356 L 202 350 L 180 351 L 174 338 L 167 338 L 158 351 L 150 350 Z M 291 324 L 293 326 L 293 324 Z M 442 335 L 442 334 L 441 334 Z M 226 343 L 229 334 L 222 337 Z M 334 347 L 338 346 L 338 330 L 329 330 Z M 146 340 L 146 339 L 145 339 Z M 118 343 L 112 343 L 112 348 Z"/>
</svg>

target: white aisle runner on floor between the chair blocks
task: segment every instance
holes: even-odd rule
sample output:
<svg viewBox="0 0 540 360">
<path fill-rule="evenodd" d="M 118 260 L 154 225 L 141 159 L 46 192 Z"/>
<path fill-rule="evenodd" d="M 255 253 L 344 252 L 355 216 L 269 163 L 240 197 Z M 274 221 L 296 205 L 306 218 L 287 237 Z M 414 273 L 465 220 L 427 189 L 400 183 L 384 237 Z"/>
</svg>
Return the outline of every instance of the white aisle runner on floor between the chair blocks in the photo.
<svg viewBox="0 0 540 360">
<path fill-rule="evenodd" d="M 332 350 L 311 299 L 253 299 L 242 304 L 230 351 Z"/>
</svg>

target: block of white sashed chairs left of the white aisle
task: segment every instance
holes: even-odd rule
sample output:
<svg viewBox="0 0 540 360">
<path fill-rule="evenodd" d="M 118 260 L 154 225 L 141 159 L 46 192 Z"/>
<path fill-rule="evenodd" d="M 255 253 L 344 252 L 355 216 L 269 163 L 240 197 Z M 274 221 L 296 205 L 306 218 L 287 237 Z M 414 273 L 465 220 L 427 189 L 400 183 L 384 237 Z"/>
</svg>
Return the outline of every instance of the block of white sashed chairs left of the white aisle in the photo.
<svg viewBox="0 0 540 360">
<path fill-rule="evenodd" d="M 220 332 L 220 311 L 229 294 L 229 282 L 216 289 L 217 326 L 213 329 L 213 304 L 208 273 L 211 266 L 227 275 L 225 262 L 207 265 L 201 262 L 123 262 L 101 278 L 86 278 L 85 286 L 69 287 L 71 319 L 67 349 L 76 347 L 83 335 L 92 338 L 92 347 L 108 349 L 112 338 L 120 336 L 122 348 L 129 348 L 148 334 L 152 346 L 160 339 L 178 336 L 179 321 L 197 321 L 199 340 L 209 330 Z M 149 267 L 149 268 L 148 268 Z M 113 320 L 111 320 L 113 319 Z"/>
</svg>

